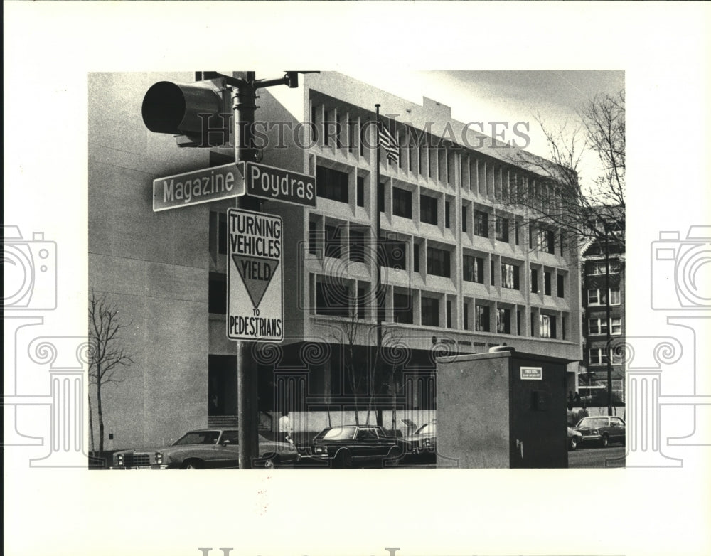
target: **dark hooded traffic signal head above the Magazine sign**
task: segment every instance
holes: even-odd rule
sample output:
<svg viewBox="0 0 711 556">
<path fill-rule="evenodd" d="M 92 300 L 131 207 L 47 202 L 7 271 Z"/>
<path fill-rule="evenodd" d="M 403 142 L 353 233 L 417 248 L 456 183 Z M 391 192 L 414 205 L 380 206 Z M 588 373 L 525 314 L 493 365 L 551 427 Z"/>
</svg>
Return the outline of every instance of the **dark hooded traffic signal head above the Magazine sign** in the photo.
<svg viewBox="0 0 711 556">
<path fill-rule="evenodd" d="M 176 135 L 178 146 L 230 144 L 230 90 L 222 79 L 159 81 L 146 92 L 141 114 L 151 132 Z"/>
</svg>

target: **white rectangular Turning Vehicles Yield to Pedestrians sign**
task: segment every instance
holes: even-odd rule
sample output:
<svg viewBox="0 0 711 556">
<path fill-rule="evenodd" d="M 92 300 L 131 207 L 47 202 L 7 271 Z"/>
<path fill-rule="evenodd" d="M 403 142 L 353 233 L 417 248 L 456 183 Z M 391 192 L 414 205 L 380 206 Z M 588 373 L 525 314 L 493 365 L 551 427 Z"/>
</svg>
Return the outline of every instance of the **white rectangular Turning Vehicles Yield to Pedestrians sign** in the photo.
<svg viewBox="0 0 711 556">
<path fill-rule="evenodd" d="M 280 342 L 282 218 L 228 208 L 228 314 L 230 340 Z"/>
</svg>

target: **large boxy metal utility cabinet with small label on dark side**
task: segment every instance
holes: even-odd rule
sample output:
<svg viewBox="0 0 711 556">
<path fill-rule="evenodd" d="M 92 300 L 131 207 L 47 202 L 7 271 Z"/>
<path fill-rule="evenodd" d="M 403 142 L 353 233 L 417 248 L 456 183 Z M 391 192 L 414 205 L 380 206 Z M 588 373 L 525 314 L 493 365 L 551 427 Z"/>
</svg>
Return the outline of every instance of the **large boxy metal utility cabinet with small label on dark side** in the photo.
<svg viewBox="0 0 711 556">
<path fill-rule="evenodd" d="M 437 466 L 567 467 L 570 360 L 521 353 L 437 359 Z"/>
</svg>

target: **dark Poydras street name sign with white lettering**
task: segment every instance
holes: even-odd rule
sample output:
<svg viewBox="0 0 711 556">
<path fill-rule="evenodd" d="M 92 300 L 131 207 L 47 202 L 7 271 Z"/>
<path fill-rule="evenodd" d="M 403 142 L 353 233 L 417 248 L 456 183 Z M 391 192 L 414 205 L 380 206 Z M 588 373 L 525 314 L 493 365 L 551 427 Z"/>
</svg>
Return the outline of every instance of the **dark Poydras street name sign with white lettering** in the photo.
<svg viewBox="0 0 711 556">
<path fill-rule="evenodd" d="M 247 162 L 247 195 L 316 208 L 316 178 L 303 173 Z"/>
</svg>

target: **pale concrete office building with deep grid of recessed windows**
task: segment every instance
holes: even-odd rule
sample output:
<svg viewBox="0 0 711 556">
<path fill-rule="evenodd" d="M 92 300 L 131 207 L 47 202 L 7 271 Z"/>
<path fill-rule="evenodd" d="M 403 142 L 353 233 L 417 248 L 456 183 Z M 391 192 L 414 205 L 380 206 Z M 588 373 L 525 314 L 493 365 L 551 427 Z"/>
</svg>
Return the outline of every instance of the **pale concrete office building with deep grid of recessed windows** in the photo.
<svg viewBox="0 0 711 556">
<path fill-rule="evenodd" d="M 179 149 L 149 132 L 141 101 L 159 80 L 193 75 L 90 75 L 90 288 L 130 323 L 124 343 L 135 361 L 105 390 L 107 449 L 169 442 L 233 422 L 237 410 L 237 348 L 225 334 L 225 211 L 235 199 L 160 213 L 151 205 L 154 178 L 225 164 L 233 153 Z M 317 178 L 316 208 L 260 207 L 284 222 L 284 342 L 250 351 L 265 432 L 284 408 L 304 431 L 353 421 L 356 402 L 364 418 L 379 267 L 383 338 L 393 348 L 388 384 L 378 385 L 386 426 L 434 417 L 435 355 L 507 343 L 581 358 L 575 243 L 552 227 L 529 228 L 508 204 L 520 188 L 542 187 L 541 176 L 434 100 L 418 105 L 336 73 L 304 75 L 300 87 L 299 114 L 258 92 L 257 121 L 288 124 L 266 134 L 262 164 Z M 382 156 L 380 185 L 375 103 L 400 144 L 396 162 Z M 358 323 L 351 351 L 347 321 Z M 344 370 L 351 362 L 353 375 Z"/>
</svg>

